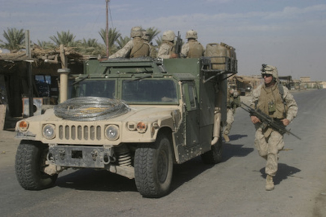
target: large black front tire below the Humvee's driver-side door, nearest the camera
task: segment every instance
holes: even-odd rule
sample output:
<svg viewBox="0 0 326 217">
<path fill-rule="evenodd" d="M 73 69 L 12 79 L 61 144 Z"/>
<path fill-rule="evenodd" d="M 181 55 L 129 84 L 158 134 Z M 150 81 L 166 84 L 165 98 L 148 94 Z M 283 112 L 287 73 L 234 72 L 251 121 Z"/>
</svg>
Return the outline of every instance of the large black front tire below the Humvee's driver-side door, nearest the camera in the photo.
<svg viewBox="0 0 326 217">
<path fill-rule="evenodd" d="M 134 167 L 136 187 L 143 197 L 162 197 L 168 194 L 173 171 L 169 138 L 158 134 L 156 142 L 137 148 Z"/>
</svg>

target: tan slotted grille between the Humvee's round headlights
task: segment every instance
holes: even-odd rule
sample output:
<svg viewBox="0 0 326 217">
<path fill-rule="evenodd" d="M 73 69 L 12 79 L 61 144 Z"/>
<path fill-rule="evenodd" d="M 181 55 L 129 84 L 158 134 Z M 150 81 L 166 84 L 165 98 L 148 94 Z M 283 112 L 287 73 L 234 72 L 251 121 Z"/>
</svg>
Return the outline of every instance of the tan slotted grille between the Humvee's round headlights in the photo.
<svg viewBox="0 0 326 217">
<path fill-rule="evenodd" d="M 60 140 L 101 140 L 102 127 L 97 125 L 59 125 Z"/>
</svg>

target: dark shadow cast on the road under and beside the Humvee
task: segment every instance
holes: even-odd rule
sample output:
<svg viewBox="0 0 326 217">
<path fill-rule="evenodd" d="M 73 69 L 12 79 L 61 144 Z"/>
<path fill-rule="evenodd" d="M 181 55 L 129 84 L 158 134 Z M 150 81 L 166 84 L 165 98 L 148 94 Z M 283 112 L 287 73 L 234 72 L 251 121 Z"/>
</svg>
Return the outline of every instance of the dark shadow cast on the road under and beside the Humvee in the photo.
<svg viewBox="0 0 326 217">
<path fill-rule="evenodd" d="M 254 150 L 253 148 L 243 148 L 242 146 L 243 145 L 224 144 L 223 161 L 227 161 L 233 156 L 247 156 Z M 214 165 L 204 164 L 200 156 L 183 164 L 174 165 L 170 192 L 212 167 L 214 167 Z M 57 186 L 90 191 L 137 192 L 133 179 L 130 180 L 105 170 L 81 169 L 70 171 L 72 172 L 61 177 L 59 176 L 56 181 Z"/>
</svg>

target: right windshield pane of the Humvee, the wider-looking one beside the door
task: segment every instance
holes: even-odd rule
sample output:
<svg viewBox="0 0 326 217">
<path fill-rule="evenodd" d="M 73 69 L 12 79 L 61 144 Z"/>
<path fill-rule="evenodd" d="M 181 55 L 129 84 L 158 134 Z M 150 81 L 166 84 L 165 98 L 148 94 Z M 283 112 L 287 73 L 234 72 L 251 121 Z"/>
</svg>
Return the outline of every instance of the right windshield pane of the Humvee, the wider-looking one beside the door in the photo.
<svg viewBox="0 0 326 217">
<path fill-rule="evenodd" d="M 176 85 L 167 79 L 123 80 L 122 100 L 131 104 L 176 104 Z"/>
</svg>

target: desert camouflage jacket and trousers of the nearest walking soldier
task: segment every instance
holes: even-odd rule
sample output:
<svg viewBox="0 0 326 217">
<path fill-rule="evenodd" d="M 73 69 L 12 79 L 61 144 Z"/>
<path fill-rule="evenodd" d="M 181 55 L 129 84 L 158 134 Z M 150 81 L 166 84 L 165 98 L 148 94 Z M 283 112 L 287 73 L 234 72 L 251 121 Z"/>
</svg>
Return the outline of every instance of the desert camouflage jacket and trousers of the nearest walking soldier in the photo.
<svg viewBox="0 0 326 217">
<path fill-rule="evenodd" d="M 276 112 L 278 115 L 269 115 L 273 118 L 283 119 L 286 118 L 289 121 L 292 121 L 293 118 L 297 115 L 298 105 L 295 102 L 292 94 L 289 92 L 288 88 L 282 86 L 284 93 L 283 98 L 286 102 L 286 106 L 283 104 L 281 95 L 279 93 L 277 83 L 270 88 L 266 88 L 265 84 L 259 85 L 253 91 L 253 99 L 251 107 L 260 109 L 263 113 L 268 114 L 268 102 L 273 100 L 275 102 Z M 260 96 L 263 95 L 262 99 Z M 284 110 L 286 115 L 284 116 Z M 279 132 L 268 128 L 262 130 L 261 123 L 255 124 L 256 134 L 255 134 L 255 147 L 258 150 L 258 153 L 261 157 L 267 160 L 265 173 L 274 176 L 277 172 L 277 160 L 278 153 L 284 147 L 283 135 Z"/>
</svg>

